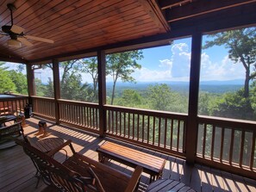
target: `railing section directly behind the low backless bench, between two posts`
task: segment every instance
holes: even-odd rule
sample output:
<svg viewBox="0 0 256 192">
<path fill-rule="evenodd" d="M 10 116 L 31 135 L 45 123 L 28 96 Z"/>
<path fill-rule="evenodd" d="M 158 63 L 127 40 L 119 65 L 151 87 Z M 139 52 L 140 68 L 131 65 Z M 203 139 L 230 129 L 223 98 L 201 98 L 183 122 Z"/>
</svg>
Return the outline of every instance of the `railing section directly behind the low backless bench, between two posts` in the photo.
<svg viewBox="0 0 256 192">
<path fill-rule="evenodd" d="M 105 106 L 107 134 L 184 157 L 187 115 Z"/>
</svg>

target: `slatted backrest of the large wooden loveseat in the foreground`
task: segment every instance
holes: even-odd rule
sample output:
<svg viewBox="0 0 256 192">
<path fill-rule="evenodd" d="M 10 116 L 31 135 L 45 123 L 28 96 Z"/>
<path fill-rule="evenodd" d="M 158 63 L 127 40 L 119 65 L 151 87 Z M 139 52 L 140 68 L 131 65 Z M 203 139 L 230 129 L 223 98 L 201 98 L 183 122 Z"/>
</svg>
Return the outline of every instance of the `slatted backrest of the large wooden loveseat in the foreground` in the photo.
<svg viewBox="0 0 256 192">
<path fill-rule="evenodd" d="M 69 170 L 54 158 L 20 139 L 16 139 L 16 143 L 23 147 L 48 185 L 53 185 L 60 191 L 97 191 L 94 177 L 81 177 L 77 172 Z M 90 169 L 88 172 L 92 175 Z"/>
</svg>

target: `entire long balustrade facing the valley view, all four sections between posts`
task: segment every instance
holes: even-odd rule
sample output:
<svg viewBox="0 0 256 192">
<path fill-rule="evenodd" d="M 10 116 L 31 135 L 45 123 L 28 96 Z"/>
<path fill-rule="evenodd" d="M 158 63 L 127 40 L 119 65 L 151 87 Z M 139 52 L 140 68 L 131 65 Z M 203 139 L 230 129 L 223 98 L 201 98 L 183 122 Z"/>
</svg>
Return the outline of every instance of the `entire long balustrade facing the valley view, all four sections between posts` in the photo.
<svg viewBox="0 0 256 192">
<path fill-rule="evenodd" d="M 107 136 L 122 139 L 159 152 L 186 157 L 185 142 L 197 142 L 196 162 L 256 179 L 255 121 L 240 121 L 200 115 L 197 141 L 185 140 L 188 115 L 147 109 L 103 106 L 106 121 L 100 120 L 95 103 L 32 97 L 34 113 L 93 133 L 100 133 L 100 123 Z M 24 102 L 25 103 L 25 102 Z"/>
</svg>

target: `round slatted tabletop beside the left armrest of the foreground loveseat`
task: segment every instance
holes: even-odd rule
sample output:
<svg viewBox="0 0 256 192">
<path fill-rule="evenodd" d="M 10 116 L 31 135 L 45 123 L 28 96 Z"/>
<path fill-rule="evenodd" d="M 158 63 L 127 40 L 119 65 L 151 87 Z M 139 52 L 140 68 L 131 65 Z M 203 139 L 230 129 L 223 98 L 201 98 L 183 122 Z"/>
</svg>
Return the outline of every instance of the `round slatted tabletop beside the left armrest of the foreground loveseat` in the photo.
<svg viewBox="0 0 256 192">
<path fill-rule="evenodd" d="M 64 139 L 62 138 L 44 138 L 33 142 L 32 146 L 39 149 L 41 152 L 50 152 L 56 147 L 62 145 Z"/>
</svg>

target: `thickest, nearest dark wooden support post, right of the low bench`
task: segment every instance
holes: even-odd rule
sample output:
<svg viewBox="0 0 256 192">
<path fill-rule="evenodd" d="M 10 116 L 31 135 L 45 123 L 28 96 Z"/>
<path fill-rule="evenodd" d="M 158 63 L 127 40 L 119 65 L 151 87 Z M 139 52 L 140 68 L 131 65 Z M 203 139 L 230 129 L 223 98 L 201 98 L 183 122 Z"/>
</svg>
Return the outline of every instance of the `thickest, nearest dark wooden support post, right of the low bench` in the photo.
<svg viewBox="0 0 256 192">
<path fill-rule="evenodd" d="M 191 60 L 190 60 L 190 96 L 189 115 L 186 127 L 186 161 L 194 164 L 197 152 L 197 106 L 200 80 L 202 34 L 192 35 Z"/>
</svg>

